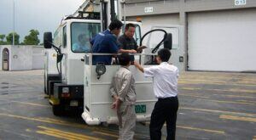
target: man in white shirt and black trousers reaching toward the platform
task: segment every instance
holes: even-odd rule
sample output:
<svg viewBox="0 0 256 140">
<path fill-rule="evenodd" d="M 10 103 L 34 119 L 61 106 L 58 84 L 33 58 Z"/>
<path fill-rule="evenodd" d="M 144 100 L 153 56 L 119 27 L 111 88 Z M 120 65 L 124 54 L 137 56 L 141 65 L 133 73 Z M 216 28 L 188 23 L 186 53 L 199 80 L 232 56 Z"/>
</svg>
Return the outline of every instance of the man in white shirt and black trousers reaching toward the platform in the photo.
<svg viewBox="0 0 256 140">
<path fill-rule="evenodd" d="M 150 139 L 161 139 L 161 128 L 166 122 L 167 140 L 175 139 L 177 120 L 177 67 L 168 64 L 171 52 L 163 48 L 156 57 L 159 65 L 143 68 L 137 62 L 134 65 L 141 70 L 146 77 L 153 77 L 154 95 L 158 101 L 154 105 L 149 125 Z"/>
</svg>

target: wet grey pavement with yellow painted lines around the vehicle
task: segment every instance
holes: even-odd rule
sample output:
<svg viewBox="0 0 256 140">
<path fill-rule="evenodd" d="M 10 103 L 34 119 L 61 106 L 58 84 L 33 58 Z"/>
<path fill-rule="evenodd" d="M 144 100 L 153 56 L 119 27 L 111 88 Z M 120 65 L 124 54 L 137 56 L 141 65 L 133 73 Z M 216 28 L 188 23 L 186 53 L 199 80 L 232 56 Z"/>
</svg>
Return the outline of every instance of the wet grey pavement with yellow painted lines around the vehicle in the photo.
<svg viewBox="0 0 256 140">
<path fill-rule="evenodd" d="M 256 139 L 256 74 L 184 72 L 177 139 Z M 72 113 L 71 113 L 72 114 Z M 166 126 L 163 127 L 166 138 Z M 148 122 L 135 139 L 149 139 Z M 118 127 L 87 126 L 79 115 L 52 114 L 44 71 L 0 71 L 0 140 L 117 139 Z"/>
</svg>

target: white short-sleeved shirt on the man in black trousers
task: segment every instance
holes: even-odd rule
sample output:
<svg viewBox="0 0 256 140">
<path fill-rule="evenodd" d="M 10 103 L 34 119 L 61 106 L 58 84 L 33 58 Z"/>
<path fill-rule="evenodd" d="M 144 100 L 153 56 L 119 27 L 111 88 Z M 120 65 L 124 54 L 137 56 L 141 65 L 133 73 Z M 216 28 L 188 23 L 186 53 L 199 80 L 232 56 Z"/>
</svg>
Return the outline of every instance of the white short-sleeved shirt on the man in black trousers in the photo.
<svg viewBox="0 0 256 140">
<path fill-rule="evenodd" d="M 162 62 L 160 65 L 144 68 L 145 77 L 153 77 L 154 95 L 156 98 L 177 96 L 177 67 Z"/>
</svg>

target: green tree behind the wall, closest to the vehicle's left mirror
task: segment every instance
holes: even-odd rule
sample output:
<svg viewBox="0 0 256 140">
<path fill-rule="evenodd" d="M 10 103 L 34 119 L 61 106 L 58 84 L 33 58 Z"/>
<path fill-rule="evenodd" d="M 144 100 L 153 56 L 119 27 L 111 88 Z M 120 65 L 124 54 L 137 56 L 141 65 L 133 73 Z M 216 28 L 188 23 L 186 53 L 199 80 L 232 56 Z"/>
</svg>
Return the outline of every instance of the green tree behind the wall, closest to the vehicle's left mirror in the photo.
<svg viewBox="0 0 256 140">
<path fill-rule="evenodd" d="M 25 36 L 24 42 L 22 44 L 24 45 L 38 45 L 40 40 L 38 39 L 39 31 L 37 30 L 31 30 L 29 31 L 29 35 Z"/>
</svg>

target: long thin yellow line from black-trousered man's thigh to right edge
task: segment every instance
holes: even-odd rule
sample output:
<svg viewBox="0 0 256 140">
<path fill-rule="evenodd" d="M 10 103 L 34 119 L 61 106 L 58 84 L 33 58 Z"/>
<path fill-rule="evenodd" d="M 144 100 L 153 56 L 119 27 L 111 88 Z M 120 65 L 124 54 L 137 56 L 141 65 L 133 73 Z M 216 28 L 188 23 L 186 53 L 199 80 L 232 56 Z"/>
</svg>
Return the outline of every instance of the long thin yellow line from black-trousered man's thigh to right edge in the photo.
<svg viewBox="0 0 256 140">
<path fill-rule="evenodd" d="M 189 110 L 212 112 L 212 113 L 221 113 L 221 114 L 228 114 L 228 115 L 243 115 L 243 116 L 250 116 L 250 117 L 256 116 L 255 114 L 248 114 L 248 113 L 241 113 L 241 112 L 231 112 L 231 111 L 223 111 L 223 110 L 214 110 L 214 109 L 196 109 L 196 108 L 186 108 L 186 107 L 181 107 L 179 109 L 189 109 Z"/>
</svg>

